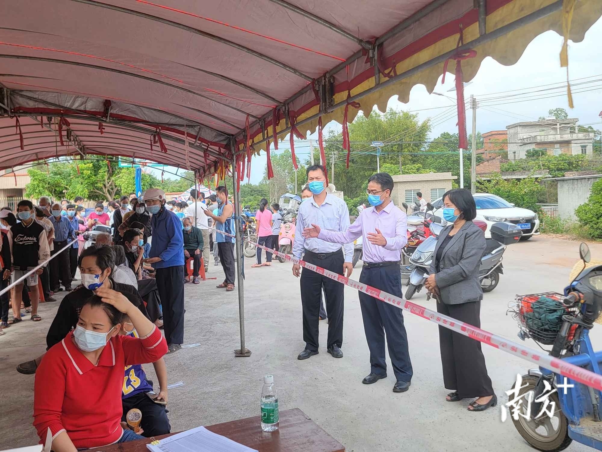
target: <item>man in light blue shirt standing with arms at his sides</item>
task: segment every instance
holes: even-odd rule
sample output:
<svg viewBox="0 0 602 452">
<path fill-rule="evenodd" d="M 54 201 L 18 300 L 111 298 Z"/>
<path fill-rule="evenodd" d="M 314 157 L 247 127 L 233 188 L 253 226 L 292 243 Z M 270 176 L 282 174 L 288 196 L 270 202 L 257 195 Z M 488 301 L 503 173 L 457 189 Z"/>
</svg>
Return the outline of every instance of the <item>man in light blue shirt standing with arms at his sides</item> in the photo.
<svg viewBox="0 0 602 452">
<path fill-rule="evenodd" d="M 353 245 L 346 243 L 341 249 L 337 243 L 329 243 L 317 238 L 304 238 L 303 229 L 312 224 L 328 230 L 346 231 L 349 227 L 349 209 L 343 199 L 326 192 L 326 172 L 321 165 L 307 168 L 309 190 L 314 194 L 299 206 L 297 227 L 293 243 L 293 256 L 329 271 L 349 277 L 353 271 Z M 301 276 L 301 303 L 303 306 L 303 350 L 297 359 L 308 359 L 318 354 L 318 316 L 320 313 L 321 290 L 326 294 L 328 312 L 327 351 L 335 358 L 342 358 L 343 352 L 343 284 L 331 280 L 317 272 L 293 265 L 293 275 Z"/>
</svg>

